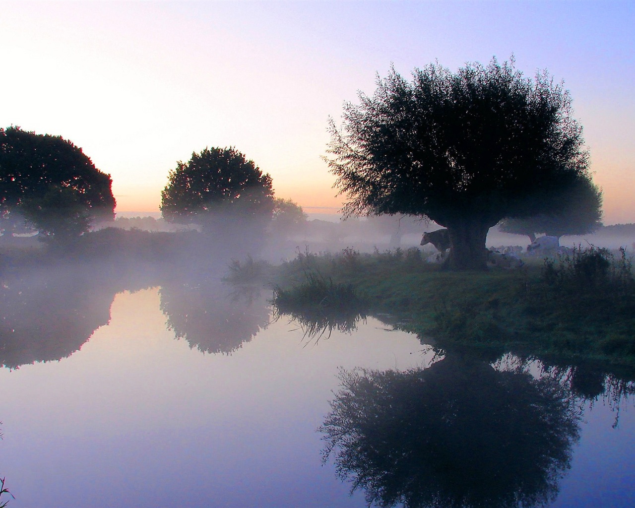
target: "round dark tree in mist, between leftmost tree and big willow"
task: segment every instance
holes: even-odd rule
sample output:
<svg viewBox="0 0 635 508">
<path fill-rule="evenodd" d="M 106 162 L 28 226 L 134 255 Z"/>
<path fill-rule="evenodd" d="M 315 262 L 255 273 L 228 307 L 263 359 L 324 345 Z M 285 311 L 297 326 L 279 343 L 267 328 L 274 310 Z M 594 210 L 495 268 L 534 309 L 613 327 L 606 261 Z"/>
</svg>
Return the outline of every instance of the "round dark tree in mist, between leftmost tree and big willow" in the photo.
<svg viewBox="0 0 635 508">
<path fill-rule="evenodd" d="M 241 224 L 266 224 L 274 210 L 269 174 L 230 148 L 206 148 L 179 161 L 161 192 L 161 212 L 170 222 L 199 224 L 211 231 Z"/>
</svg>

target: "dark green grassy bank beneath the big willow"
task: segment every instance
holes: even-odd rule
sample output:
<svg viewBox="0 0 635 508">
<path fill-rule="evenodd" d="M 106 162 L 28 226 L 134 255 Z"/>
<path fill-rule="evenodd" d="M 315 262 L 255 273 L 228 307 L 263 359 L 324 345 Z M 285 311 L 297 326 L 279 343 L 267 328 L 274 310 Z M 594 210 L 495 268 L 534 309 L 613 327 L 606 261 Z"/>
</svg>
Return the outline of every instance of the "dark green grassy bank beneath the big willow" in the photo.
<svg viewBox="0 0 635 508">
<path fill-rule="evenodd" d="M 286 297 L 281 311 L 290 308 L 293 288 L 302 287 L 307 299 L 311 277 L 350 288 L 368 314 L 391 314 L 399 328 L 442 349 L 635 368 L 635 281 L 624 252 L 591 248 L 514 271 L 460 273 L 426 264 L 416 249 L 300 253 L 275 271 Z M 303 299 L 295 302 L 296 315 L 312 307 Z"/>
</svg>

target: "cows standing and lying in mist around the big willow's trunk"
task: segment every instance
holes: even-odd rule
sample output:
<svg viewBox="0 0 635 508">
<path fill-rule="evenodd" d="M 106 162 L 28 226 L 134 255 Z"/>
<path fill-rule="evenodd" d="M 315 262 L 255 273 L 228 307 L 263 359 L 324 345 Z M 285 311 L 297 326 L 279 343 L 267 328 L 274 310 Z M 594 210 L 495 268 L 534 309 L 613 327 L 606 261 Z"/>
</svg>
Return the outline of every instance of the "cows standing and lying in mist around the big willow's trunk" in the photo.
<svg viewBox="0 0 635 508">
<path fill-rule="evenodd" d="M 443 263 L 450 253 L 450 235 L 447 229 L 425 232 L 421 245 L 432 244 L 438 252 L 427 257 L 429 263 Z M 525 264 L 522 256 L 544 257 L 558 253 L 570 253 L 570 248 L 561 247 L 557 236 L 540 236 L 526 250 L 519 245 L 501 245 L 490 247 L 487 252 L 487 264 L 502 269 L 520 268 Z"/>
</svg>

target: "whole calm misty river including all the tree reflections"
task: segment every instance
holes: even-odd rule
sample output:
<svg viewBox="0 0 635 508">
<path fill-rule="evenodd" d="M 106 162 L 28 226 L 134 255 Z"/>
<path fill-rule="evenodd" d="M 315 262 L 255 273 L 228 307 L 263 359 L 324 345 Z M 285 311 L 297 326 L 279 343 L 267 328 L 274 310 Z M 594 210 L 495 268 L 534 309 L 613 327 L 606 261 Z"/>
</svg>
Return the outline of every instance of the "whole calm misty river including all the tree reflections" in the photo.
<svg viewBox="0 0 635 508">
<path fill-rule="evenodd" d="M 374 318 L 308 338 L 220 282 L 50 286 L 4 284 L 9 508 L 635 505 L 618 380 L 584 399 L 566 372 L 438 358 Z"/>
</svg>

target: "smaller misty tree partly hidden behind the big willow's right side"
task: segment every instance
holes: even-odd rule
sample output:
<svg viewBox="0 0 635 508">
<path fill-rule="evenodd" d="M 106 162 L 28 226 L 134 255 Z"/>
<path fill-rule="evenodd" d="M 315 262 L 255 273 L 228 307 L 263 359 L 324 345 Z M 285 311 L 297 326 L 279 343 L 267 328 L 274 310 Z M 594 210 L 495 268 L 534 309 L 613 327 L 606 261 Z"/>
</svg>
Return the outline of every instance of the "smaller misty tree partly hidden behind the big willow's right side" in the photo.
<svg viewBox="0 0 635 508">
<path fill-rule="evenodd" d="M 556 199 L 559 206 L 549 206 L 547 211 L 533 217 L 503 219 L 500 231 L 524 234 L 533 242 L 536 233 L 559 237 L 592 233 L 602 227 L 602 191 L 589 178 L 578 178 Z M 559 207 L 559 211 L 549 211 Z"/>
</svg>

